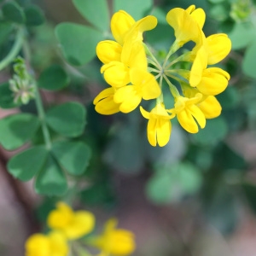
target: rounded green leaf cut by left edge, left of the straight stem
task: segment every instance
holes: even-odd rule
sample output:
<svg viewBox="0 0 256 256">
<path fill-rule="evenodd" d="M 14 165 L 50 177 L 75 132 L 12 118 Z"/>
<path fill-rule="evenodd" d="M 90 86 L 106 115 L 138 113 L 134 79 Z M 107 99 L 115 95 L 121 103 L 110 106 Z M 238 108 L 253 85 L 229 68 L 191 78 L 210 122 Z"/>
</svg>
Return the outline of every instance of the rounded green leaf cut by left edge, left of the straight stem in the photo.
<svg viewBox="0 0 256 256">
<path fill-rule="evenodd" d="M 38 130 L 38 117 L 30 113 L 17 113 L 0 120 L 0 143 L 13 150 L 29 141 Z"/>
</svg>

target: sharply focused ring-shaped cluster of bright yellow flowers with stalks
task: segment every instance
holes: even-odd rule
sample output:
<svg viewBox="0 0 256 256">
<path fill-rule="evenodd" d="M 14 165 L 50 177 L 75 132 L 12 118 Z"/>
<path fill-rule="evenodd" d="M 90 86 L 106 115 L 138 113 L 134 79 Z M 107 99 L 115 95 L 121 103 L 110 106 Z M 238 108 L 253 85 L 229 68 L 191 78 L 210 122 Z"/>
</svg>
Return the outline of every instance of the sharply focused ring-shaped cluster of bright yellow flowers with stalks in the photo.
<svg viewBox="0 0 256 256">
<path fill-rule="evenodd" d="M 150 112 L 143 107 L 140 110 L 148 119 L 148 142 L 160 147 L 170 139 L 171 119 L 177 117 L 184 130 L 196 133 L 198 125 L 206 126 L 206 119 L 218 117 L 222 108 L 215 96 L 225 90 L 230 75 L 219 67 L 208 65 L 222 61 L 230 53 L 231 42 L 224 33 L 206 37 L 202 31 L 205 19 L 204 10 L 195 9 L 195 5 L 188 9 L 171 9 L 166 21 L 174 29 L 176 40 L 160 63 L 143 43 L 143 32 L 154 29 L 156 18 L 149 15 L 135 21 L 123 10 L 115 13 L 111 20 L 115 41 L 102 41 L 96 46 L 96 54 L 104 64 L 101 72 L 110 85 L 96 96 L 96 111 L 129 113 L 142 99 L 156 99 Z M 177 50 L 189 41 L 194 42 L 195 47 L 176 56 Z M 176 68 L 181 61 L 190 63 L 189 69 Z M 174 98 L 171 109 L 165 107 L 163 80 Z M 178 82 L 178 87 L 173 80 Z"/>
</svg>

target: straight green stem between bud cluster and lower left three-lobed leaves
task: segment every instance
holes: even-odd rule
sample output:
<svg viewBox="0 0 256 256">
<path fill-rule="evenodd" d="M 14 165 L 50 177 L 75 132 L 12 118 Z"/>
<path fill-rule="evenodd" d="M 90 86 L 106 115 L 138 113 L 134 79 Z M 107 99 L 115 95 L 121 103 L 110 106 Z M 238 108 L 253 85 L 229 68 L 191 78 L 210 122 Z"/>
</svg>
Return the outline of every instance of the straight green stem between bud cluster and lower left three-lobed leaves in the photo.
<svg viewBox="0 0 256 256">
<path fill-rule="evenodd" d="M 35 102 L 37 105 L 37 109 L 38 109 L 38 118 L 41 121 L 41 126 L 42 126 L 42 131 L 43 131 L 43 135 L 44 135 L 44 143 L 45 143 L 45 147 L 47 149 L 51 148 L 51 139 L 49 136 L 49 130 L 48 130 L 48 126 L 46 125 L 46 120 L 45 120 L 45 113 L 44 113 L 44 105 L 38 90 L 38 85 L 35 85 Z"/>
</svg>

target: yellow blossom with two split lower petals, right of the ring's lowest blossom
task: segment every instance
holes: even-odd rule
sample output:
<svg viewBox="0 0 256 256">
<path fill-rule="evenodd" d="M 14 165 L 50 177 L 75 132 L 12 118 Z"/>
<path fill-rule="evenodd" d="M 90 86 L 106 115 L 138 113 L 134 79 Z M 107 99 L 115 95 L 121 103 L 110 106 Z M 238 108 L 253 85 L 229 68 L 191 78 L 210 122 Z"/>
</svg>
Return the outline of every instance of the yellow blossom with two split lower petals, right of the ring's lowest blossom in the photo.
<svg viewBox="0 0 256 256">
<path fill-rule="evenodd" d="M 176 113 L 180 125 L 184 130 L 190 133 L 198 132 L 198 125 L 200 125 L 201 128 L 206 126 L 205 115 L 197 106 L 197 104 L 201 102 L 201 98 L 201 93 L 197 93 L 192 98 L 177 96 L 175 98 L 174 110 L 169 110 L 170 113 Z"/>
</svg>

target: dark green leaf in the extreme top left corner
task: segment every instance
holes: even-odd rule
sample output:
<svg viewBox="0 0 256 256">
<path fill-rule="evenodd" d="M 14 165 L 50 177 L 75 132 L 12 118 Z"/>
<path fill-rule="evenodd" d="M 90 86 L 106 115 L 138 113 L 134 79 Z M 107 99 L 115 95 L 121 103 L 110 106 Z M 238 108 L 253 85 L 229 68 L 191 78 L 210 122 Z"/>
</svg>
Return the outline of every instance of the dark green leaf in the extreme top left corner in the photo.
<svg viewBox="0 0 256 256">
<path fill-rule="evenodd" d="M 21 9 L 20 5 L 14 1 L 4 3 L 2 12 L 6 20 L 10 20 L 15 23 L 25 22 L 25 15 L 23 10 Z"/>
</svg>

